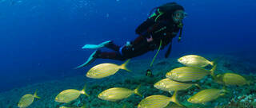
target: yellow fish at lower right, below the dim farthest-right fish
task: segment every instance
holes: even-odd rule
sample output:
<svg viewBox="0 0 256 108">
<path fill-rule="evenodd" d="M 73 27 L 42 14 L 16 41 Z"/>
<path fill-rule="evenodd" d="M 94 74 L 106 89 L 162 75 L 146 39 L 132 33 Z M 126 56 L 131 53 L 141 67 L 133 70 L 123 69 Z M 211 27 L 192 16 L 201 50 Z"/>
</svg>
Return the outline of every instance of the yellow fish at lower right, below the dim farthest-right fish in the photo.
<svg viewBox="0 0 256 108">
<path fill-rule="evenodd" d="M 197 94 L 193 95 L 192 97 L 188 98 L 188 102 L 192 103 L 206 103 L 217 99 L 219 96 L 225 95 L 227 93 L 225 89 L 206 89 L 199 91 Z"/>
</svg>

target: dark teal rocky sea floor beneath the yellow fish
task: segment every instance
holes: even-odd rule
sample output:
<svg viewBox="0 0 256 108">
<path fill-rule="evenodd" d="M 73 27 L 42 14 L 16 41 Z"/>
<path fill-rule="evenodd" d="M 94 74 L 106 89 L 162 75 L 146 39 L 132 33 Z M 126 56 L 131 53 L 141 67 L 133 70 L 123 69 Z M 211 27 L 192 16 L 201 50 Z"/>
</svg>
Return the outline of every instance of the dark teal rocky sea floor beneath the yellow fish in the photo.
<svg viewBox="0 0 256 108">
<path fill-rule="evenodd" d="M 178 101 L 188 108 L 256 108 L 256 64 L 251 64 L 247 60 L 238 56 L 227 55 L 206 55 L 208 60 L 218 60 L 218 66 L 215 73 L 234 72 L 245 76 L 250 80 L 250 86 L 244 85 L 241 87 L 230 86 L 226 87 L 230 93 L 219 97 L 213 102 L 206 104 L 192 104 L 187 102 L 187 98 L 201 91 L 198 87 L 190 87 L 186 91 L 178 91 Z M 166 95 L 172 96 L 166 91 L 160 91 L 154 88 L 154 83 L 166 78 L 166 72 L 182 67 L 182 64 L 177 62 L 178 58 L 158 59 L 155 61 L 152 71 L 154 77 L 146 76 L 146 70 L 149 68 L 150 60 L 131 60 L 127 68 L 132 72 L 124 70 L 118 71 L 115 75 L 111 75 L 105 79 L 88 79 L 84 76 L 70 77 L 61 80 L 54 80 L 46 83 L 36 83 L 27 87 L 15 88 L 11 91 L 6 91 L 0 94 L 0 108 L 17 108 L 19 99 L 26 94 L 34 94 L 38 90 L 40 99 L 35 99 L 28 108 L 58 108 L 60 106 L 79 107 L 86 104 L 86 108 L 135 108 L 143 99 L 138 95 L 131 95 L 129 98 L 118 102 L 108 102 L 99 99 L 97 96 L 100 92 L 111 87 L 126 87 L 134 90 L 138 85 L 142 84 L 139 92 L 146 98 L 150 95 Z M 85 73 L 86 74 L 86 73 Z M 81 95 L 78 99 L 70 103 L 55 102 L 54 98 L 58 93 L 66 89 L 82 90 L 84 85 L 86 93 L 90 95 Z M 222 85 L 214 83 L 210 75 L 200 80 L 198 84 L 202 89 L 219 88 Z M 173 106 L 166 107 L 178 107 Z"/>
</svg>

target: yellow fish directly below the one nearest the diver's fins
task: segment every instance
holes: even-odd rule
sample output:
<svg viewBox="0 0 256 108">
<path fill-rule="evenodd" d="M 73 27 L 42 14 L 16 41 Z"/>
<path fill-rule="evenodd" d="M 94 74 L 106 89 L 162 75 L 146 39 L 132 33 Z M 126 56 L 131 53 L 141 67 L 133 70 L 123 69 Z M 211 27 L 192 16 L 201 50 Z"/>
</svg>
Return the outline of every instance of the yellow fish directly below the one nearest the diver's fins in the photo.
<svg viewBox="0 0 256 108">
<path fill-rule="evenodd" d="M 110 88 L 105 91 L 102 91 L 102 93 L 98 95 L 98 98 L 101 98 L 102 100 L 115 102 L 118 100 L 122 100 L 123 98 L 128 98 L 130 97 L 130 95 L 133 95 L 133 94 L 142 96 L 138 92 L 139 87 L 140 86 L 138 86 L 134 91 L 127 88 L 122 88 L 122 87 Z"/>
</svg>

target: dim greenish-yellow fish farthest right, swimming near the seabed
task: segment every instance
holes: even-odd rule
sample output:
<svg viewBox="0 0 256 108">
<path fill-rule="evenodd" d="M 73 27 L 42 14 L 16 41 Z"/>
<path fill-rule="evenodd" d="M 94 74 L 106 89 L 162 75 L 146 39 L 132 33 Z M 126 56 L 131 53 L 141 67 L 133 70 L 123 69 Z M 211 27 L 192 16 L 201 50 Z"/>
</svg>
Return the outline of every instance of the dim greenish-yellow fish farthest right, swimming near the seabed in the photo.
<svg viewBox="0 0 256 108">
<path fill-rule="evenodd" d="M 238 75 L 235 73 L 219 74 L 216 77 L 214 77 L 214 81 L 216 81 L 217 83 L 230 86 L 242 86 L 245 84 L 250 85 L 250 82 L 247 81 L 244 77 L 242 77 L 242 75 Z"/>
</svg>

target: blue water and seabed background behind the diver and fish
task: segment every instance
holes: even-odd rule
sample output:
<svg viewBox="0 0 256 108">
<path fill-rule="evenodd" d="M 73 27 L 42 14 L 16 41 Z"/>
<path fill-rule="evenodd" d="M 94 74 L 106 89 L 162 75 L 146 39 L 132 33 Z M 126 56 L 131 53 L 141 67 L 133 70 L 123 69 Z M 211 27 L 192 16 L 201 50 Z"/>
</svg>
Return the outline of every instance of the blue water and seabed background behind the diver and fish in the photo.
<svg viewBox="0 0 256 108">
<path fill-rule="evenodd" d="M 99 80 L 84 77 L 96 64 L 123 63 L 116 60 L 96 60 L 86 68 L 74 70 L 94 52 L 82 49 L 84 44 L 114 40 L 122 45 L 134 40 L 138 37 L 135 29 L 146 20 L 150 10 L 166 2 L 184 6 L 188 17 L 184 19 L 182 42 L 174 38 L 170 58 L 164 58 L 166 49 L 159 53 L 154 78 L 147 78 L 145 71 L 156 51 L 132 59 L 128 64 L 132 73 L 119 71 L 117 75 Z M 122 107 L 127 104 L 134 107 L 142 100 L 137 95 L 121 102 L 106 102 L 96 95 L 110 87 L 134 89 L 138 84 L 142 84 L 143 95 L 169 95 L 150 87 L 150 83 L 162 79 L 166 71 L 181 67 L 177 59 L 188 54 L 208 60 L 222 58 L 218 72 L 233 71 L 255 81 L 255 10 L 254 0 L 0 0 L 0 107 L 18 107 L 22 95 L 33 94 L 36 89 L 42 99 L 35 100 L 29 107 L 62 106 L 54 102 L 54 97 L 65 89 L 82 90 L 85 83 L 89 83 L 88 94 L 94 96 L 82 95 L 68 106 Z M 204 80 L 207 83 L 210 79 Z M 219 87 L 217 83 L 207 86 Z M 256 91 L 250 91 L 256 90 L 255 84 L 231 88 L 236 97 L 229 95 L 202 107 L 224 106 L 232 98 L 243 95 L 251 94 L 253 101 L 256 99 Z M 191 95 L 194 89 L 187 94 Z M 182 93 L 186 98 L 185 91 Z"/>
</svg>

